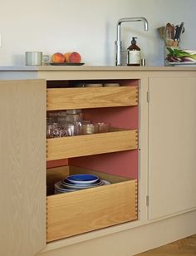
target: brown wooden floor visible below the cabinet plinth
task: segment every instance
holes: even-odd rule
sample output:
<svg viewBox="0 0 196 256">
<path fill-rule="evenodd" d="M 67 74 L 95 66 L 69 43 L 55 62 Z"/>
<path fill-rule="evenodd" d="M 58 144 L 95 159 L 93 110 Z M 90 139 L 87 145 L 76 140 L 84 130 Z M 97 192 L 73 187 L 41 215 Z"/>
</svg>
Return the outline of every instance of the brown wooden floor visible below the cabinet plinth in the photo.
<svg viewBox="0 0 196 256">
<path fill-rule="evenodd" d="M 137 256 L 196 256 L 196 234 Z M 135 255 L 136 256 L 136 255 Z"/>
</svg>

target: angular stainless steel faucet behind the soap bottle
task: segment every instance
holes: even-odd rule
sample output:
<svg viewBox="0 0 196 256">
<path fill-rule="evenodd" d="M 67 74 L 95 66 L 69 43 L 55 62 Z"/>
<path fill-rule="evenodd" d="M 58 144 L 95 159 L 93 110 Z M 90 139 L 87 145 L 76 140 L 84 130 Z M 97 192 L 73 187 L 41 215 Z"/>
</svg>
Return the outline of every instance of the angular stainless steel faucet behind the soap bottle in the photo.
<svg viewBox="0 0 196 256">
<path fill-rule="evenodd" d="M 122 42 L 120 39 L 120 25 L 122 22 L 144 22 L 145 23 L 145 31 L 149 30 L 149 23 L 145 17 L 123 17 L 117 23 L 117 39 L 115 41 L 115 66 L 122 66 Z"/>
</svg>

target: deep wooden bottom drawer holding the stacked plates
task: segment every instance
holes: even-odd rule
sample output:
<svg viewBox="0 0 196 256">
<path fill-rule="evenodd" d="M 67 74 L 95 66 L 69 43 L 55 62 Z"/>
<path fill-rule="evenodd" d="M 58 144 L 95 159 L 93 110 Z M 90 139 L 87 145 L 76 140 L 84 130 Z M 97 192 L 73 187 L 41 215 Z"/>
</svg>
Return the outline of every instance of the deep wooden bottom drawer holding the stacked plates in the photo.
<svg viewBox="0 0 196 256">
<path fill-rule="evenodd" d="M 63 172 L 62 177 L 65 173 L 85 172 L 99 175 L 112 184 L 47 196 L 47 242 L 137 219 L 137 180 L 73 166 L 63 168 L 48 170 L 53 182 L 56 175 L 62 179 Z"/>
</svg>

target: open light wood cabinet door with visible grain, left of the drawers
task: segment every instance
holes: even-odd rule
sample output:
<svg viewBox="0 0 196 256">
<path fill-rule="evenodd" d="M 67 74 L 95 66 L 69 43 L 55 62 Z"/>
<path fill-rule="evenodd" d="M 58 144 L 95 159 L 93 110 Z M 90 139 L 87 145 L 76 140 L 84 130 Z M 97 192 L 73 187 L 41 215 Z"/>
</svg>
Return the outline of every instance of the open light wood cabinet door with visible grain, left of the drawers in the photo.
<svg viewBox="0 0 196 256">
<path fill-rule="evenodd" d="M 0 81 L 0 255 L 46 244 L 46 84 Z"/>
</svg>

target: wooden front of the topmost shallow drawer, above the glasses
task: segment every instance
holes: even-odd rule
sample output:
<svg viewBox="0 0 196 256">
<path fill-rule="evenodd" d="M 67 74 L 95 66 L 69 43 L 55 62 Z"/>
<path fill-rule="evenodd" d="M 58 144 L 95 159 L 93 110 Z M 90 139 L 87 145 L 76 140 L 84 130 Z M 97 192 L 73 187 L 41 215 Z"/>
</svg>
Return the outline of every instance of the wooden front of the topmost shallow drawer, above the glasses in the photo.
<svg viewBox="0 0 196 256">
<path fill-rule="evenodd" d="M 137 105 L 138 86 L 47 89 L 47 111 Z"/>
</svg>

